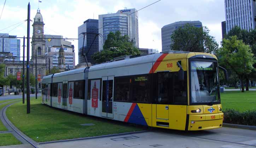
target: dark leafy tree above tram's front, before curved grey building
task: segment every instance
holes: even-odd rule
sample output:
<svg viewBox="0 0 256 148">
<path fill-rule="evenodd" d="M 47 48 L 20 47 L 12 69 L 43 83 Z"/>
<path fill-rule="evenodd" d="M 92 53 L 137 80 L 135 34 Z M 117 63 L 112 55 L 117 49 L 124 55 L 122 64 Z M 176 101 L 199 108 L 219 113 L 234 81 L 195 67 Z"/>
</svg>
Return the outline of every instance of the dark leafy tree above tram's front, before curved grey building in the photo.
<svg viewBox="0 0 256 148">
<path fill-rule="evenodd" d="M 171 35 L 171 50 L 187 52 L 205 52 L 216 54 L 219 47 L 213 36 L 209 35 L 207 27 L 184 25 Z"/>
</svg>

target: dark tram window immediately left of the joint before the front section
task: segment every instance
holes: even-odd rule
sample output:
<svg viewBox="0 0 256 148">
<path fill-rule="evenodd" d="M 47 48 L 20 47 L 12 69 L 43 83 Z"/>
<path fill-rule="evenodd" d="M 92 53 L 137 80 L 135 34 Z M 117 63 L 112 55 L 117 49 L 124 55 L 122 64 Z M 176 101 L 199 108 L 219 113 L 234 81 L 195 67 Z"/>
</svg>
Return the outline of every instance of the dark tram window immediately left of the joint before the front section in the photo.
<svg viewBox="0 0 256 148">
<path fill-rule="evenodd" d="M 74 98 L 84 99 L 85 97 L 85 80 L 74 81 Z"/>
</svg>

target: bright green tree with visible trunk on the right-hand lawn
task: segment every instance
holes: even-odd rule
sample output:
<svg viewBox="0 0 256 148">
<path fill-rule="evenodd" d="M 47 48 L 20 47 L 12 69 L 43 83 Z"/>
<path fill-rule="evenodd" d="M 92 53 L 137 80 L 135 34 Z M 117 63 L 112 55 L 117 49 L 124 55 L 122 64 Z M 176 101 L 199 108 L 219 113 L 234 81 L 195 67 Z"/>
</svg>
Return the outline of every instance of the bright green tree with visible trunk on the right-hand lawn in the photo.
<svg viewBox="0 0 256 148">
<path fill-rule="evenodd" d="M 241 81 L 242 92 L 244 92 L 244 79 L 252 70 L 255 63 L 251 48 L 245 45 L 237 36 L 222 40 L 222 47 L 219 49 L 219 61 L 228 69 L 234 71 Z"/>
</svg>

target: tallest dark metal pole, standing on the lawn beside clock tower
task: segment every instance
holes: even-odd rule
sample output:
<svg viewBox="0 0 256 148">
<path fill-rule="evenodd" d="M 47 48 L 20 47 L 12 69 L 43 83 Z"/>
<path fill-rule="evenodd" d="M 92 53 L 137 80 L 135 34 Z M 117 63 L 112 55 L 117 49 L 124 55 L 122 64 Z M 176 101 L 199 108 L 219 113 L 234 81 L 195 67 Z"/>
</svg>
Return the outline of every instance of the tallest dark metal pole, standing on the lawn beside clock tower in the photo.
<svg viewBox="0 0 256 148">
<path fill-rule="evenodd" d="M 28 20 L 27 20 L 27 113 L 30 113 L 30 77 L 29 77 L 29 41 L 30 41 L 30 4 L 28 3 Z"/>
</svg>

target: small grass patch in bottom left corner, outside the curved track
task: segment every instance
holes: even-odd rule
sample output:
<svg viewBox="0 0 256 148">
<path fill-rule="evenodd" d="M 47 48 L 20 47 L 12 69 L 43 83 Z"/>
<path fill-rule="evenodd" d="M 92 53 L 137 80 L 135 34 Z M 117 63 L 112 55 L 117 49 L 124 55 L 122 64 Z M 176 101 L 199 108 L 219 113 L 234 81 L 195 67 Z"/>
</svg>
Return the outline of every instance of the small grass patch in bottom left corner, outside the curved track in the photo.
<svg viewBox="0 0 256 148">
<path fill-rule="evenodd" d="M 11 133 L 0 134 L 0 146 L 22 144 Z"/>
</svg>

